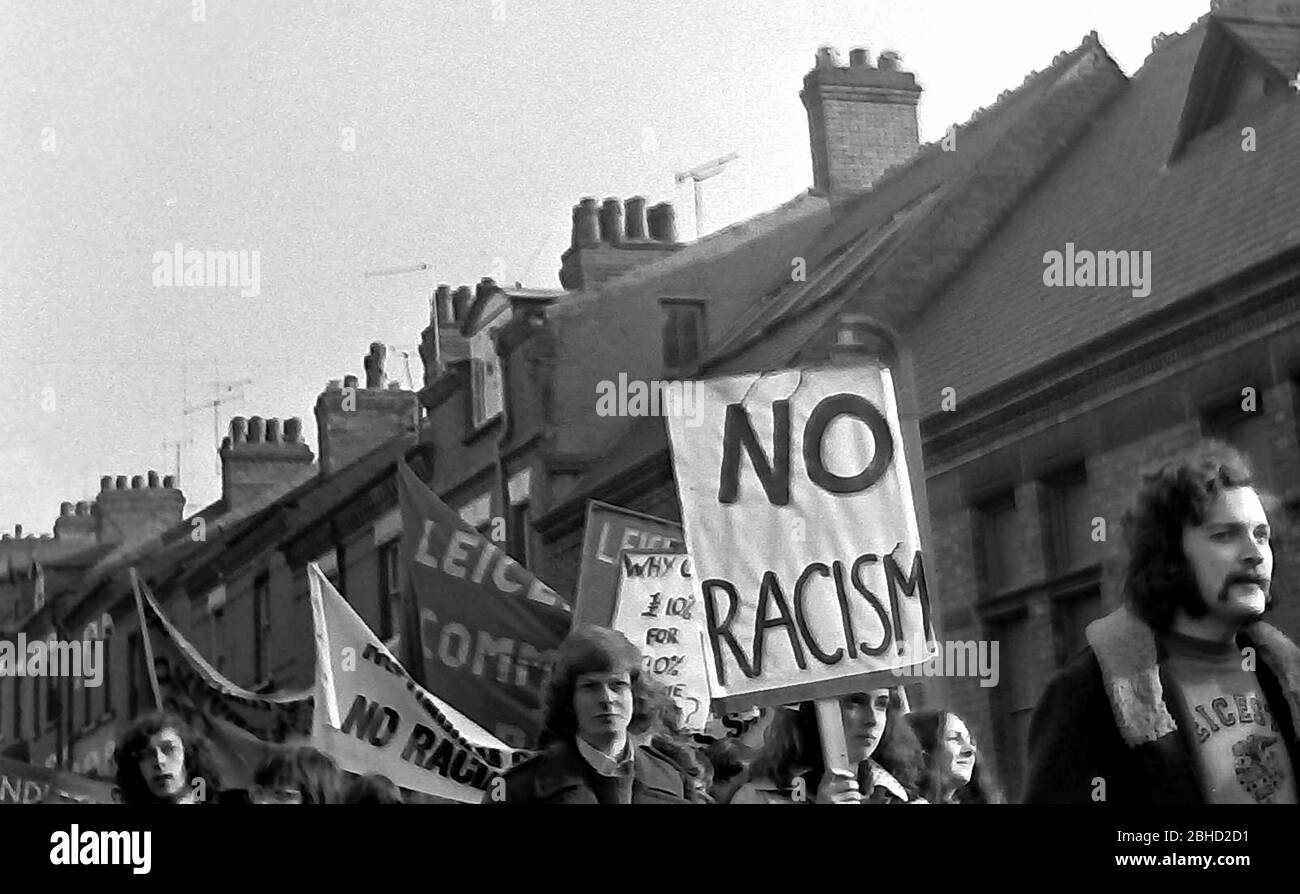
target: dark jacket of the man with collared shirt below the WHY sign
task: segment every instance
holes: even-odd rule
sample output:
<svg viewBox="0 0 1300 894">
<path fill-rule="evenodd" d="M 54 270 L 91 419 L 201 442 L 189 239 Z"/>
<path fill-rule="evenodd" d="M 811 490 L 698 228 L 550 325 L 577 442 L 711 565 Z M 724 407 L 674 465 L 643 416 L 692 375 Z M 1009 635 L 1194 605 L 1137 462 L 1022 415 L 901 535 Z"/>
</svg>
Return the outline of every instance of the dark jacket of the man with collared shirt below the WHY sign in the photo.
<svg viewBox="0 0 1300 894">
<path fill-rule="evenodd" d="M 629 780 L 597 773 L 573 739 L 554 742 L 506 771 L 507 804 L 689 804 L 696 803 L 685 772 L 650 745 L 633 752 Z M 500 803 L 489 786 L 484 803 Z"/>
</svg>

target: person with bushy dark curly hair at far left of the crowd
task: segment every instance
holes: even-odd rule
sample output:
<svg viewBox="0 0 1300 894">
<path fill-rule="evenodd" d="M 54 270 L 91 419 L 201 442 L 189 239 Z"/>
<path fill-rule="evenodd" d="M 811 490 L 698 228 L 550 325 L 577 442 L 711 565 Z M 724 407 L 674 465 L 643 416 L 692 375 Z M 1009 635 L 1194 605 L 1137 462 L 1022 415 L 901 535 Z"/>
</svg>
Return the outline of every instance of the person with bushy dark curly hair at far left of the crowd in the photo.
<svg viewBox="0 0 1300 894">
<path fill-rule="evenodd" d="M 138 717 L 122 735 L 114 761 L 127 804 L 216 803 L 221 791 L 208 741 L 170 712 Z"/>
</svg>

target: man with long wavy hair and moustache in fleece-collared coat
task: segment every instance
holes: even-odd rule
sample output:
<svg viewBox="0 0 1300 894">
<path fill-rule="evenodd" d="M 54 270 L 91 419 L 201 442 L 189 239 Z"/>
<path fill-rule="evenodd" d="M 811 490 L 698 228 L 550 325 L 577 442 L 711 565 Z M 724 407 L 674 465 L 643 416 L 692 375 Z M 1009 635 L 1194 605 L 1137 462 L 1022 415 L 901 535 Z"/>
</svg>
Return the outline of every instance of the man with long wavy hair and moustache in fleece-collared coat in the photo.
<svg viewBox="0 0 1300 894">
<path fill-rule="evenodd" d="M 1227 444 L 1145 476 L 1126 604 L 1088 625 L 1034 712 L 1027 803 L 1296 803 L 1300 650 L 1260 620 L 1271 535 Z"/>
</svg>

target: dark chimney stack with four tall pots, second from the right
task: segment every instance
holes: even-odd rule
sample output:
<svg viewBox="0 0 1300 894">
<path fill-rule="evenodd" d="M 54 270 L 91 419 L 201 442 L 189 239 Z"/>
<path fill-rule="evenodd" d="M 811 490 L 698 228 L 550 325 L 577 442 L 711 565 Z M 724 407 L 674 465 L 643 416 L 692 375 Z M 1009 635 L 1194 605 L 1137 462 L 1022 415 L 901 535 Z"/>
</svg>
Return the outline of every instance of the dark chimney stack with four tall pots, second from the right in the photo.
<svg viewBox="0 0 1300 894">
<path fill-rule="evenodd" d="M 597 205 L 588 196 L 573 205 L 573 238 L 560 257 L 560 285 L 571 291 L 592 288 L 679 248 L 668 203 L 646 208 L 644 196 L 633 196 Z"/>
</svg>

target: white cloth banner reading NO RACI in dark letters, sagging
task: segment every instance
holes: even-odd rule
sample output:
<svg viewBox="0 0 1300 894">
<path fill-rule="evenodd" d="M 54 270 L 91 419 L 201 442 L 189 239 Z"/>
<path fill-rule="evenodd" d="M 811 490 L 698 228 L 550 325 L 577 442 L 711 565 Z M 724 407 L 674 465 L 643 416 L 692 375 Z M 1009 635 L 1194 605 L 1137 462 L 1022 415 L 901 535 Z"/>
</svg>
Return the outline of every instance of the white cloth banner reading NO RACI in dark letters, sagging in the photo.
<svg viewBox="0 0 1300 894">
<path fill-rule="evenodd" d="M 307 568 L 316 628 L 312 741 L 351 773 L 481 802 L 491 780 L 528 754 L 416 683 L 320 568 Z"/>
</svg>

